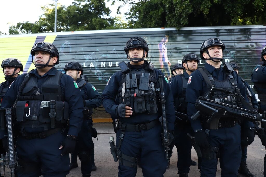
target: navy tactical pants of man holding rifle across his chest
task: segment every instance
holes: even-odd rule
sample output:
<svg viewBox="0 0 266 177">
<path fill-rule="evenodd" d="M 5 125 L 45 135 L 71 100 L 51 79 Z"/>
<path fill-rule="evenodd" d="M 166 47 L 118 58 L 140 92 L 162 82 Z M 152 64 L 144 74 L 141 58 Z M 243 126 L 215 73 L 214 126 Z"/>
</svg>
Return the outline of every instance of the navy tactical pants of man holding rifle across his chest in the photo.
<svg viewBox="0 0 266 177">
<path fill-rule="evenodd" d="M 241 127 L 225 127 L 210 130 L 208 142 L 211 146 L 219 147 L 221 177 L 237 177 L 241 161 Z M 218 159 L 202 158 L 201 177 L 215 177 Z"/>
</svg>

